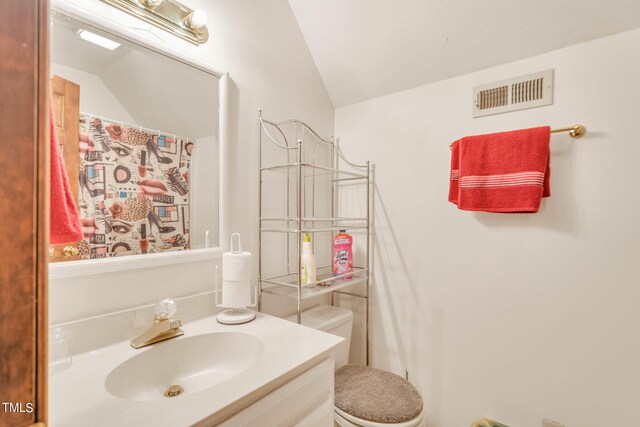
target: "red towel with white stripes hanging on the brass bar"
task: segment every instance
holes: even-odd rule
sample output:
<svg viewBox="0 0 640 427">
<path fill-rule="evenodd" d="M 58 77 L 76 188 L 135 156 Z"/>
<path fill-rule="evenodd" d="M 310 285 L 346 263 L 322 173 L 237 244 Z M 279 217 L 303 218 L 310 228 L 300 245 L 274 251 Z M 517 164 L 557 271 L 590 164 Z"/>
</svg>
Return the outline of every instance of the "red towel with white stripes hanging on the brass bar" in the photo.
<svg viewBox="0 0 640 427">
<path fill-rule="evenodd" d="M 468 211 L 538 212 L 551 195 L 549 136 L 544 126 L 455 141 L 449 201 Z"/>
</svg>

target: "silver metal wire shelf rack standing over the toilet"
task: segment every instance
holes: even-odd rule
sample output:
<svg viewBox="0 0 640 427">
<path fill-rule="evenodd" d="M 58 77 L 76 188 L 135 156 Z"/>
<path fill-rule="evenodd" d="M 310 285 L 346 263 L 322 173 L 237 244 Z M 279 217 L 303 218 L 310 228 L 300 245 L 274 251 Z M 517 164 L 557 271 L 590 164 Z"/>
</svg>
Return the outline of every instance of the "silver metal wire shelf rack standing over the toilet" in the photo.
<svg viewBox="0 0 640 427">
<path fill-rule="evenodd" d="M 300 120 L 273 122 L 262 117 L 258 110 L 258 309 L 262 311 L 263 294 L 274 294 L 293 298 L 297 302 L 297 321 L 301 322 L 302 301 L 321 295 L 330 295 L 334 304 L 334 294 L 359 298 L 364 301 L 366 364 L 369 364 L 369 258 L 370 258 L 370 173 L 369 162 L 357 164 L 348 161 L 334 138 L 323 138 L 313 128 Z M 295 133 L 293 138 L 287 137 L 287 131 Z M 325 152 L 325 163 L 318 161 L 320 148 Z M 265 149 L 282 152 L 286 156 L 283 163 L 266 165 Z M 265 195 L 265 176 L 269 173 L 284 174 L 286 179 L 286 215 L 263 216 Z M 320 182 L 322 180 L 322 182 Z M 321 188 L 322 185 L 328 188 Z M 341 186 L 362 184 L 365 188 L 364 215 L 339 216 L 338 201 Z M 326 191 L 325 191 L 326 190 Z M 316 203 L 316 195 L 326 196 L 322 203 Z M 272 199 L 272 198 L 269 198 Z M 269 200 L 271 201 L 271 200 Z M 316 216 L 317 205 L 329 206 L 330 213 Z M 307 212 L 310 211 L 310 214 Z M 333 234 L 339 230 L 358 230 L 364 239 L 361 254 L 362 266 L 339 276 L 332 274 L 330 265 L 319 267 L 318 280 L 303 286 L 301 284 L 302 237 L 304 233 L 314 235 L 316 239 L 326 239 L 328 243 Z M 286 236 L 286 272 L 284 274 L 265 276 L 263 274 L 263 256 L 265 255 L 264 236 L 281 233 Z M 318 237 L 316 237 L 318 234 Z M 293 244 L 292 240 L 295 240 Z M 331 248 L 331 245 L 327 245 Z M 292 249 L 295 249 L 294 251 Z M 290 254 L 295 253 L 293 262 Z M 271 254 L 272 255 L 272 254 Z M 352 288 L 363 292 L 356 292 Z"/>
</svg>

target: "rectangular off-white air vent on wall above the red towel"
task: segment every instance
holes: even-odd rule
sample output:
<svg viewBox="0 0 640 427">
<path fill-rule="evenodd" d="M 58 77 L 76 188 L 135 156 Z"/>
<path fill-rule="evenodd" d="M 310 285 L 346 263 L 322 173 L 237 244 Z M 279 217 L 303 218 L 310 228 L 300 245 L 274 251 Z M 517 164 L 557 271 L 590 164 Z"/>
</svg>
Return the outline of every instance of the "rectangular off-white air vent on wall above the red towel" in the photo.
<svg viewBox="0 0 640 427">
<path fill-rule="evenodd" d="M 553 70 L 473 88 L 473 117 L 553 104 Z"/>
</svg>

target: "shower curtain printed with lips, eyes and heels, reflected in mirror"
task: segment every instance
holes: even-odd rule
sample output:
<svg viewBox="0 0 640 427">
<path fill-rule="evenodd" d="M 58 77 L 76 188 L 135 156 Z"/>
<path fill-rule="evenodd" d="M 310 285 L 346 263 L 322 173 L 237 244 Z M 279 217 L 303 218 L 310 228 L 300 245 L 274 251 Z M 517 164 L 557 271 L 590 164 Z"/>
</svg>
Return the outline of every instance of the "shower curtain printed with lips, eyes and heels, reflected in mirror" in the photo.
<svg viewBox="0 0 640 427">
<path fill-rule="evenodd" d="M 80 257 L 189 248 L 193 143 L 80 115 Z"/>
</svg>

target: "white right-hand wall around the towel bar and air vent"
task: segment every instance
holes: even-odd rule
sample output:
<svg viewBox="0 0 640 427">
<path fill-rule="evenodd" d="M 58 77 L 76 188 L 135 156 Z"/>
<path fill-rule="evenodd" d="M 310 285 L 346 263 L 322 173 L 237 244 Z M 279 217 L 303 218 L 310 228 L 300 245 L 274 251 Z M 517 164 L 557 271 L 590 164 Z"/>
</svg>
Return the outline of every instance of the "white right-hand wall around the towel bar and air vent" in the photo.
<svg viewBox="0 0 640 427">
<path fill-rule="evenodd" d="M 640 30 L 336 111 L 375 164 L 373 364 L 410 379 L 427 425 L 638 425 Z M 474 85 L 554 68 L 554 105 L 471 118 Z M 393 78 L 390 76 L 390 78 Z M 552 136 L 537 214 L 447 202 L 461 136 L 582 123 Z"/>
</svg>

